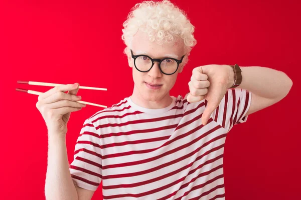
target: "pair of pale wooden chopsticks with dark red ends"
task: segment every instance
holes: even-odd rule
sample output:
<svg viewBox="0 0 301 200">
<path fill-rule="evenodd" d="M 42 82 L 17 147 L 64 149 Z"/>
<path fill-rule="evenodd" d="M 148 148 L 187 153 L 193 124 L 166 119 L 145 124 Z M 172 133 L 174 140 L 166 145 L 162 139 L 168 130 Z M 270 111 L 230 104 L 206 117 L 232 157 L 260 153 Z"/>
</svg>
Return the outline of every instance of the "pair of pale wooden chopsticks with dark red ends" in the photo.
<svg viewBox="0 0 301 200">
<path fill-rule="evenodd" d="M 17 83 L 34 84 L 34 85 L 43 85 L 43 86 L 57 86 L 57 85 L 62 85 L 62 84 L 58 84 L 58 83 L 35 82 L 35 81 L 24 81 L 24 80 L 18 80 Z M 79 86 L 79 88 L 82 88 L 82 89 L 107 90 L 106 88 L 87 87 L 87 86 Z M 30 93 L 30 94 L 36 94 L 36 95 L 41 95 L 41 94 L 43 93 L 43 92 L 40 92 L 40 91 L 34 91 L 34 90 L 23 89 L 23 88 L 16 88 L 16 90 L 17 90 L 17 91 L 26 92 L 26 93 Z M 91 103 L 91 102 L 87 102 L 87 101 L 83 101 L 83 100 L 79 100 L 79 101 L 76 101 L 76 102 L 79 102 L 79 103 L 85 103 L 85 104 L 88 104 L 88 105 L 94 105 L 94 106 L 98 106 L 98 107 L 104 107 L 104 108 L 107 107 L 107 106 L 105 106 L 105 105 L 96 104 L 96 103 Z"/>
</svg>

